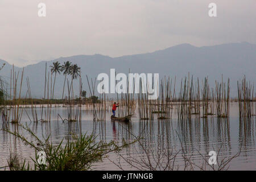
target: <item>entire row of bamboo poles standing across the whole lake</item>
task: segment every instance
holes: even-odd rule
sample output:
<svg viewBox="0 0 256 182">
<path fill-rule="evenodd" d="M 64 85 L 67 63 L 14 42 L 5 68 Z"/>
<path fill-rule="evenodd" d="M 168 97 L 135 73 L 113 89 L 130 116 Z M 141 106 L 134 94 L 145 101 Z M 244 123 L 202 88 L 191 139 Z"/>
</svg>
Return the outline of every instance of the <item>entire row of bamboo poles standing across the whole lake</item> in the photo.
<svg viewBox="0 0 256 182">
<path fill-rule="evenodd" d="M 2 111 L 2 120 L 4 123 L 19 123 L 22 117 L 23 110 L 27 113 L 26 107 L 20 107 L 20 97 L 23 83 L 24 69 L 21 73 L 20 83 L 19 72 L 14 71 L 14 66 L 11 69 L 10 77 L 10 89 L 6 93 L 10 100 L 13 100 L 12 109 L 11 106 L 5 105 Z M 106 96 L 106 93 L 96 93 L 96 78 L 88 78 L 88 88 L 90 91 L 90 98 L 95 100 L 82 100 L 82 80 L 79 76 L 79 97 L 75 98 L 73 89 L 73 78 L 71 81 L 67 79 L 68 97 L 65 98 L 64 107 L 67 107 L 68 118 L 62 118 L 58 114 L 59 118 L 64 122 L 79 122 L 81 126 L 81 114 L 83 110 L 89 110 L 93 112 L 94 121 L 106 121 L 107 112 L 112 111 L 113 98 L 110 99 Z M 47 99 L 47 104 L 42 104 L 41 110 L 35 109 L 35 104 L 32 100 L 31 86 L 29 78 L 27 81 L 27 93 L 26 98 L 30 98 L 31 115 L 28 118 L 31 122 L 50 122 L 52 105 L 54 105 L 53 89 L 52 89 L 52 74 L 47 72 L 47 63 L 45 71 L 44 82 L 44 99 Z M 127 80 L 128 81 L 128 80 Z M 141 81 L 141 80 L 140 80 Z M 2 82 L 1 82 L 2 84 Z M 156 83 L 155 83 L 156 84 Z M 128 84 L 129 85 L 129 82 Z M 215 81 L 214 88 L 210 88 L 208 77 L 202 80 L 201 84 L 199 78 L 196 80 L 193 76 L 188 74 L 188 77 L 181 79 L 180 86 L 176 88 L 176 77 L 174 81 L 170 77 L 164 77 L 159 82 L 158 98 L 156 100 L 150 100 L 148 92 L 142 93 L 142 82 L 140 82 L 139 93 L 129 93 L 129 86 L 126 93 L 117 94 L 115 101 L 119 104 L 117 109 L 117 116 L 124 117 L 126 115 L 132 115 L 135 110 L 138 111 L 138 117 L 141 120 L 154 119 L 154 115 L 157 115 L 158 119 L 171 119 L 175 113 L 179 119 L 191 118 L 192 115 L 200 118 L 207 118 L 209 115 L 216 115 L 220 118 L 229 117 L 229 102 L 230 102 L 230 79 L 224 82 L 223 77 L 221 82 Z M 244 77 L 242 81 L 237 82 L 238 86 L 238 105 L 240 117 L 251 117 L 256 112 L 255 107 L 255 95 L 254 87 L 250 82 L 246 81 Z M 54 83 L 53 83 L 54 87 Z M 133 85 L 135 89 L 135 83 Z M 3 85 L 2 85 L 3 90 Z M 145 88 L 144 90 L 148 90 Z M 178 90 L 176 92 L 176 90 Z M 134 90 L 133 90 L 134 91 Z M 24 108 L 24 109 L 23 109 Z"/>
</svg>

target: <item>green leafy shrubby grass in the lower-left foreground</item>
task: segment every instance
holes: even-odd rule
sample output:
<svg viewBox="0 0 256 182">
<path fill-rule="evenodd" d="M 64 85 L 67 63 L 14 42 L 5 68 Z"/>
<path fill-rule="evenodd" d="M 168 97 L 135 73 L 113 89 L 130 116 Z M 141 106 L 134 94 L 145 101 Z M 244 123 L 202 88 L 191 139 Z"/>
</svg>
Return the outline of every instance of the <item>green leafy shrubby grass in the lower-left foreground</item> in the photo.
<svg viewBox="0 0 256 182">
<path fill-rule="evenodd" d="M 86 171 L 91 169 L 93 163 L 101 162 L 109 152 L 120 151 L 123 147 L 131 144 L 123 143 L 122 146 L 117 146 L 113 141 L 109 143 L 96 142 L 96 137 L 84 134 L 80 137 L 74 136 L 72 141 L 68 139 L 65 144 L 63 139 L 60 144 L 53 145 L 49 142 L 49 137 L 42 141 L 27 126 L 22 127 L 32 135 L 36 144 L 29 142 L 19 133 L 7 132 L 34 148 L 35 159 L 31 158 L 32 163 L 28 163 L 26 159 L 22 160 L 18 155 L 11 153 L 7 159 L 8 168 L 11 171 Z M 44 152 L 45 164 L 40 163 L 39 152 Z"/>
</svg>

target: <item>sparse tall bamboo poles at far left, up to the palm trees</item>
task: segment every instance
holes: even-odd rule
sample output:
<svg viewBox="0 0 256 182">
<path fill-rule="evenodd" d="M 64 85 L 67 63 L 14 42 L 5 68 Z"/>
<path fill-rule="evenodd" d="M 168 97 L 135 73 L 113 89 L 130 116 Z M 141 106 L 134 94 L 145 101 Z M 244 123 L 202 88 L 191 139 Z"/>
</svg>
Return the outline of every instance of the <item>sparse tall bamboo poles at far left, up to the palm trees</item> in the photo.
<svg viewBox="0 0 256 182">
<path fill-rule="evenodd" d="M 1 81 L 1 89 L 5 90 L 5 100 L 11 100 L 13 101 L 11 105 L 5 104 L 5 102 L 2 105 L 2 121 L 5 126 L 8 126 L 9 123 L 20 123 L 20 120 L 22 118 L 22 114 L 25 112 L 27 114 L 28 119 L 30 122 L 51 122 L 51 113 L 52 113 L 52 105 L 54 95 L 53 93 L 53 87 L 52 87 L 52 74 L 50 72 L 47 73 L 47 64 L 46 64 L 46 72 L 45 72 L 45 82 L 44 82 L 44 99 L 47 101 L 47 104 L 40 105 L 40 111 L 36 109 L 35 103 L 32 99 L 32 92 L 31 92 L 31 86 L 30 86 L 30 80 L 27 77 L 27 92 L 26 92 L 26 98 L 29 98 L 30 103 L 28 103 L 29 107 L 31 109 L 31 114 L 28 114 L 27 112 L 27 106 L 21 106 L 21 92 L 22 92 L 22 84 L 23 84 L 23 75 L 24 75 L 24 68 L 21 72 L 21 76 L 19 77 L 20 72 L 16 72 L 13 68 L 11 69 L 11 76 L 10 76 L 10 84 L 5 84 L 5 82 Z M 82 84 L 81 84 L 81 77 L 79 79 L 79 88 L 80 88 L 80 96 L 78 101 L 74 98 L 74 90 L 73 90 L 73 80 L 71 81 L 71 84 L 69 84 L 69 81 L 67 81 L 68 85 L 68 99 L 67 99 L 67 106 L 68 106 L 68 118 L 61 118 L 61 116 L 58 114 L 58 120 L 59 117 L 62 119 L 62 121 L 79 121 L 81 126 L 81 106 L 82 106 L 82 99 L 81 99 L 81 92 L 82 92 Z"/>
</svg>

